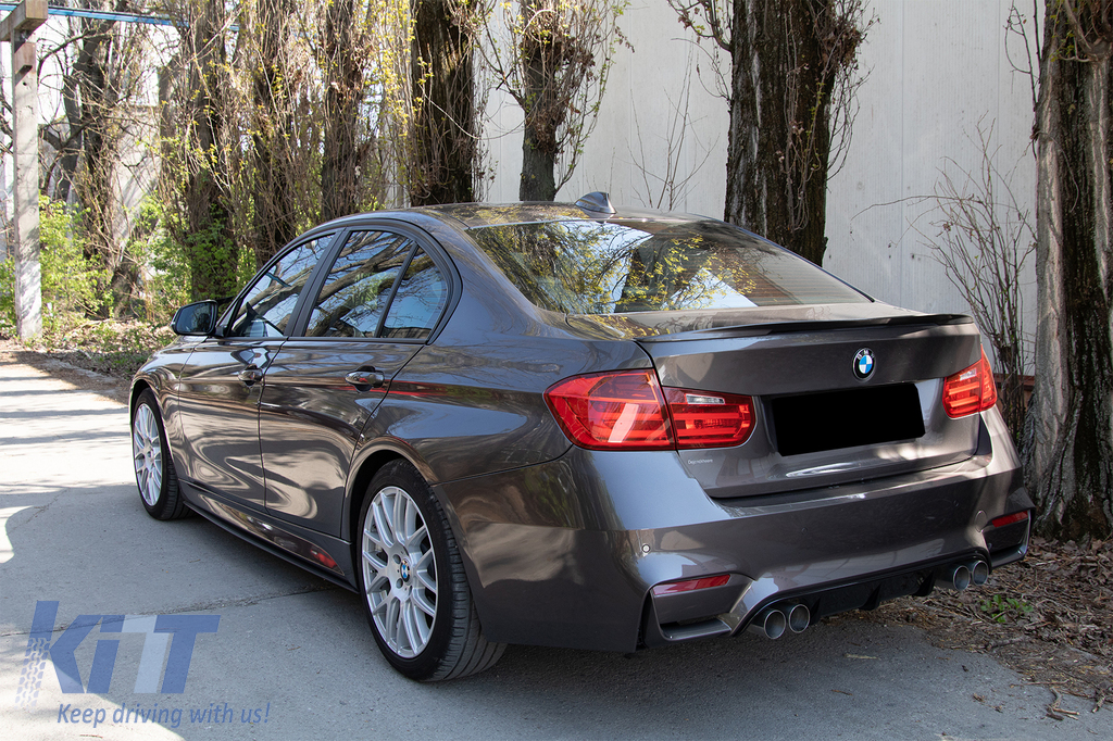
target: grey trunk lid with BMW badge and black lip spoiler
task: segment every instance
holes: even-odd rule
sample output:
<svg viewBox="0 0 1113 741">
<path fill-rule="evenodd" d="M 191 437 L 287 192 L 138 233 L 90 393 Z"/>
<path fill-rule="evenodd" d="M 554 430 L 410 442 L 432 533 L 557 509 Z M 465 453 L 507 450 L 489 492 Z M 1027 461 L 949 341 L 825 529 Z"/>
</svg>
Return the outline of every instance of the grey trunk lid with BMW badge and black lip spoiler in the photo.
<svg viewBox="0 0 1113 741">
<path fill-rule="evenodd" d="M 973 455 L 978 415 L 952 419 L 940 401 L 943 379 L 981 357 L 969 317 L 878 304 L 858 312 L 786 308 L 669 313 L 667 332 L 637 338 L 662 386 L 754 398 L 756 425 L 746 443 L 679 452 L 709 495 L 831 486 Z M 638 319 L 647 329 L 654 322 Z"/>
</svg>

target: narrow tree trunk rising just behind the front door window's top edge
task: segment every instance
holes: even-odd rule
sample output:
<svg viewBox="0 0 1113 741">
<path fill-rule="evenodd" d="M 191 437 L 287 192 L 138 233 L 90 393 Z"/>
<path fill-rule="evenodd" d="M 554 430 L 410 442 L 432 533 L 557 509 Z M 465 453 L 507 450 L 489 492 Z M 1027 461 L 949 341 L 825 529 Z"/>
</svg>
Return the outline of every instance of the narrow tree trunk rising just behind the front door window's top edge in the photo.
<svg viewBox="0 0 1113 741">
<path fill-rule="evenodd" d="M 252 151 L 255 159 L 255 265 L 263 267 L 287 241 L 297 236 L 294 210 L 294 122 L 288 69 L 292 0 L 259 0 L 258 59 L 252 72 L 255 126 Z"/>
</svg>

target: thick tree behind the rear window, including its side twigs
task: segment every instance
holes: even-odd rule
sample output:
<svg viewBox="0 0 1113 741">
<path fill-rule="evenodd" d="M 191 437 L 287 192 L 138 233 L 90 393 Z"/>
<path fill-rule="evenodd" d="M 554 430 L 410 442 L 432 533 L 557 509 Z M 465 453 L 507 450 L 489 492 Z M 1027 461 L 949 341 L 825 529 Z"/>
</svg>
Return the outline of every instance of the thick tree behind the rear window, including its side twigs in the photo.
<svg viewBox="0 0 1113 741">
<path fill-rule="evenodd" d="M 669 2 L 731 58 L 725 218 L 821 264 L 827 181 L 849 146 L 871 22 L 861 0 Z"/>
</svg>

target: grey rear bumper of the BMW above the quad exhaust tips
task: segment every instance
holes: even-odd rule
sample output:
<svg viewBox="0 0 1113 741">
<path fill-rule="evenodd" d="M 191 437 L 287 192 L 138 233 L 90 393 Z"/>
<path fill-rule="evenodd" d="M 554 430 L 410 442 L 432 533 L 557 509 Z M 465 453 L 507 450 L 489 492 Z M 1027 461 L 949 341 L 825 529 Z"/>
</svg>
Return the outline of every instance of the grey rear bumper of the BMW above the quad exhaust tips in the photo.
<svg viewBox="0 0 1113 741">
<path fill-rule="evenodd" d="M 737 633 L 782 600 L 815 619 L 929 592 L 947 564 L 1022 557 L 1026 521 L 986 526 L 1032 506 L 996 412 L 967 461 L 825 488 L 712 500 L 673 453 L 573 448 L 436 490 L 489 640 L 613 651 Z"/>
</svg>

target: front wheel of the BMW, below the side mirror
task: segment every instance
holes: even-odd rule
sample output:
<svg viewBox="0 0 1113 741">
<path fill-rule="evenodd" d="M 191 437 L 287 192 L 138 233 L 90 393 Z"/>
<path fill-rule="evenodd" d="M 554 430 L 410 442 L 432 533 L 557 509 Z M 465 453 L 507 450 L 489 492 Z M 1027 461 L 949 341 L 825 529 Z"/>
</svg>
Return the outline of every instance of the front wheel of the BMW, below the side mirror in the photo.
<svg viewBox="0 0 1113 741">
<path fill-rule="evenodd" d="M 190 514 L 178 490 L 158 402 L 149 388 L 139 394 L 131 413 L 131 457 L 147 514 L 155 520 L 178 520 Z"/>
</svg>

